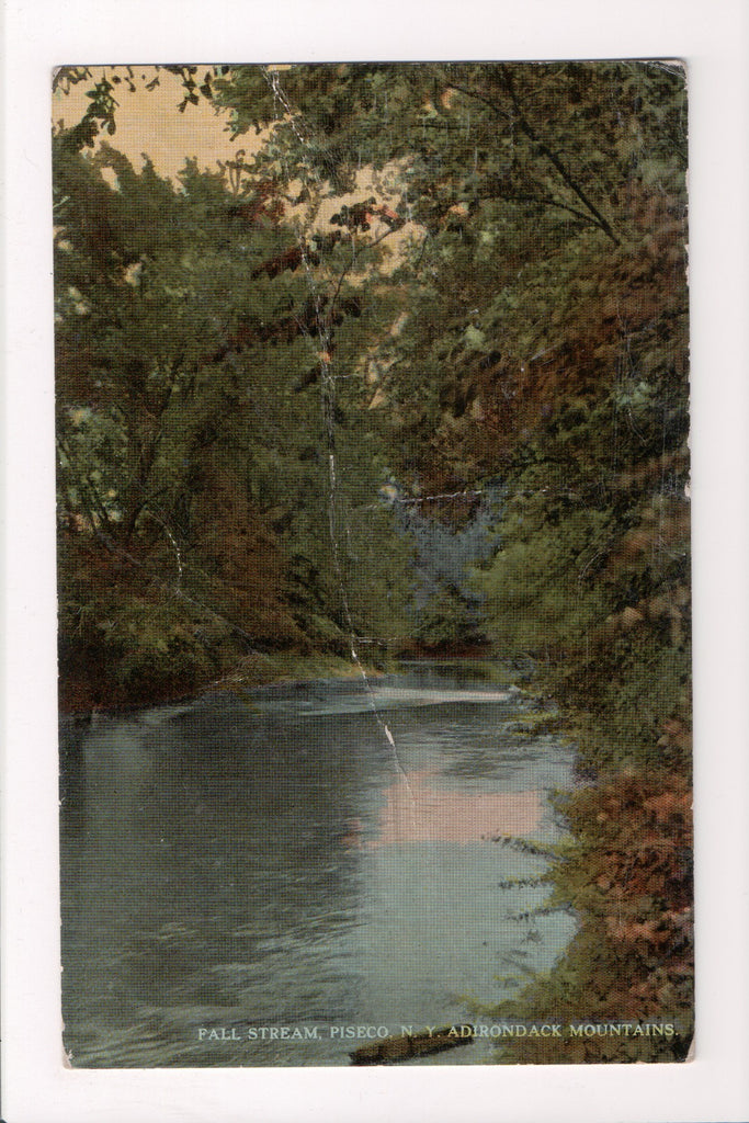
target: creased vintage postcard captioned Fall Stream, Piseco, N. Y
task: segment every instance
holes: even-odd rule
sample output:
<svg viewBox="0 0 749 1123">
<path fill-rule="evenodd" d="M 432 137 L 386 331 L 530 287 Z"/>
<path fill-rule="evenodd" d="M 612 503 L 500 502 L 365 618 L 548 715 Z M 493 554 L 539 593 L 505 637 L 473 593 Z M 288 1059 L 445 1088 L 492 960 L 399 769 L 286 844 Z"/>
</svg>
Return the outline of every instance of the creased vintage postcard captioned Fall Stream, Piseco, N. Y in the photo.
<svg viewBox="0 0 749 1123">
<path fill-rule="evenodd" d="M 74 63 L 66 1065 L 687 1061 L 684 64 Z"/>
</svg>

